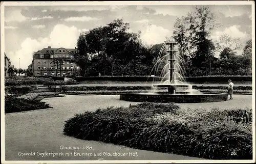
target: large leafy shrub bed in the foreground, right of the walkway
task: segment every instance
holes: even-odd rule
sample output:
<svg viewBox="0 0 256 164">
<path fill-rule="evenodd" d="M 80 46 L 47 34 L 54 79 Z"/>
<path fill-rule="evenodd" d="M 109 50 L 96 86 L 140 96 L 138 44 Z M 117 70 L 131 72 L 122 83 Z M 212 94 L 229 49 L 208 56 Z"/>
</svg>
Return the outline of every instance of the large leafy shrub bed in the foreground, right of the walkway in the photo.
<svg viewBox="0 0 256 164">
<path fill-rule="evenodd" d="M 251 112 L 185 111 L 175 104 L 142 103 L 77 114 L 65 122 L 63 132 L 136 149 L 208 159 L 252 159 Z M 234 151 L 237 155 L 231 155 Z"/>
</svg>

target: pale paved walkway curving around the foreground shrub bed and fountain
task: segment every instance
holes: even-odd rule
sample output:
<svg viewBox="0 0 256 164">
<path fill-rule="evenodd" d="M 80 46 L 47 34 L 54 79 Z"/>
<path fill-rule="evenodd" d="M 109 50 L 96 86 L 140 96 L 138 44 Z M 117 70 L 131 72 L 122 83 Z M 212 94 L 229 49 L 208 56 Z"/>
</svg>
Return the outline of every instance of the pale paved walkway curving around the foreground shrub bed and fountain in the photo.
<svg viewBox="0 0 256 164">
<path fill-rule="evenodd" d="M 26 113 L 6 114 L 5 115 L 5 133 L 6 133 L 6 160 L 178 160 L 178 159 L 200 159 L 182 155 L 158 153 L 153 151 L 145 151 L 127 148 L 124 146 L 105 144 L 96 141 L 85 141 L 63 135 L 63 124 L 66 120 L 73 117 L 77 113 L 83 111 L 95 111 L 98 107 L 106 106 L 128 106 L 130 103 L 119 100 L 119 95 L 99 95 L 99 96 L 75 96 L 66 95 L 66 97 L 46 98 L 50 106 L 49 110 L 31 111 Z M 190 103 L 180 104 L 182 107 L 210 107 L 221 105 L 223 107 L 251 107 L 250 95 L 234 95 L 233 100 L 214 103 Z M 84 150 L 63 150 L 60 147 L 77 148 L 82 146 Z M 92 147 L 93 150 L 86 150 Z M 61 153 L 59 156 L 38 156 L 37 152 L 53 152 Z M 19 152 L 28 153 L 35 152 L 35 155 L 20 155 Z M 66 153 L 72 152 L 68 156 Z M 75 156 L 74 152 L 84 153 Z M 102 153 L 102 156 L 96 156 L 94 153 Z M 127 153 L 125 156 L 110 156 L 108 153 Z M 129 153 L 136 153 L 136 156 L 129 156 Z M 86 154 L 92 153 L 92 154 Z M 77 155 L 77 154 L 76 154 Z"/>
</svg>

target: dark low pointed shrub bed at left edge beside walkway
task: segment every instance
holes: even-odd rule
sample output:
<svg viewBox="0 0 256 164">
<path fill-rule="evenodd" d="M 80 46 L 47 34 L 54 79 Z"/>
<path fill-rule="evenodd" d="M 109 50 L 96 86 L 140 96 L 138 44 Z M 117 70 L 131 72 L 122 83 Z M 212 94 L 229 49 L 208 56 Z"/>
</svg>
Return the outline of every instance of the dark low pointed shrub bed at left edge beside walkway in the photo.
<svg viewBox="0 0 256 164">
<path fill-rule="evenodd" d="M 5 96 L 5 113 L 40 110 L 49 107 L 49 104 L 46 104 L 46 102 L 40 102 L 36 99 Z"/>
</svg>

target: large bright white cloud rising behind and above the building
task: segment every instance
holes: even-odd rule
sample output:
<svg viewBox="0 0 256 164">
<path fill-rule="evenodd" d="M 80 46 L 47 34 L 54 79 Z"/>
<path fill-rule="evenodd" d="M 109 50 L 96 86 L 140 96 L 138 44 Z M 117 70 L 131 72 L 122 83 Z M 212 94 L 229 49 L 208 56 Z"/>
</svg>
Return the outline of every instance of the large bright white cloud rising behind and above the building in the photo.
<svg viewBox="0 0 256 164">
<path fill-rule="evenodd" d="M 11 63 L 14 64 L 15 67 L 18 67 L 20 58 L 20 67 L 27 69 L 31 64 L 33 51 L 41 50 L 47 46 L 52 46 L 53 48 L 75 48 L 77 38 L 83 30 L 77 29 L 75 26 L 69 27 L 63 24 L 57 24 L 48 37 L 38 39 L 26 38 L 22 42 L 20 49 L 14 52 L 8 52 Z"/>
</svg>

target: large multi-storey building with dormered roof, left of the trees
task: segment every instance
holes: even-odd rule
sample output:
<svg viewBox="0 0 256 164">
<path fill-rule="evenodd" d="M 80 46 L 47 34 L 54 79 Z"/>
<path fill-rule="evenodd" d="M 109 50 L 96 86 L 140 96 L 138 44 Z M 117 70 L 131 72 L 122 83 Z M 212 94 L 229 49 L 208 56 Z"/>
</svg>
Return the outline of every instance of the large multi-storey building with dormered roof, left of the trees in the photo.
<svg viewBox="0 0 256 164">
<path fill-rule="evenodd" d="M 71 75 L 79 71 L 78 65 L 73 62 L 76 53 L 76 48 L 52 48 L 48 46 L 47 48 L 33 52 L 33 60 L 28 69 L 33 72 L 34 76 Z M 62 60 L 61 58 L 66 59 L 66 61 L 63 60 L 61 64 L 59 63 L 57 65 L 56 60 Z"/>
</svg>

